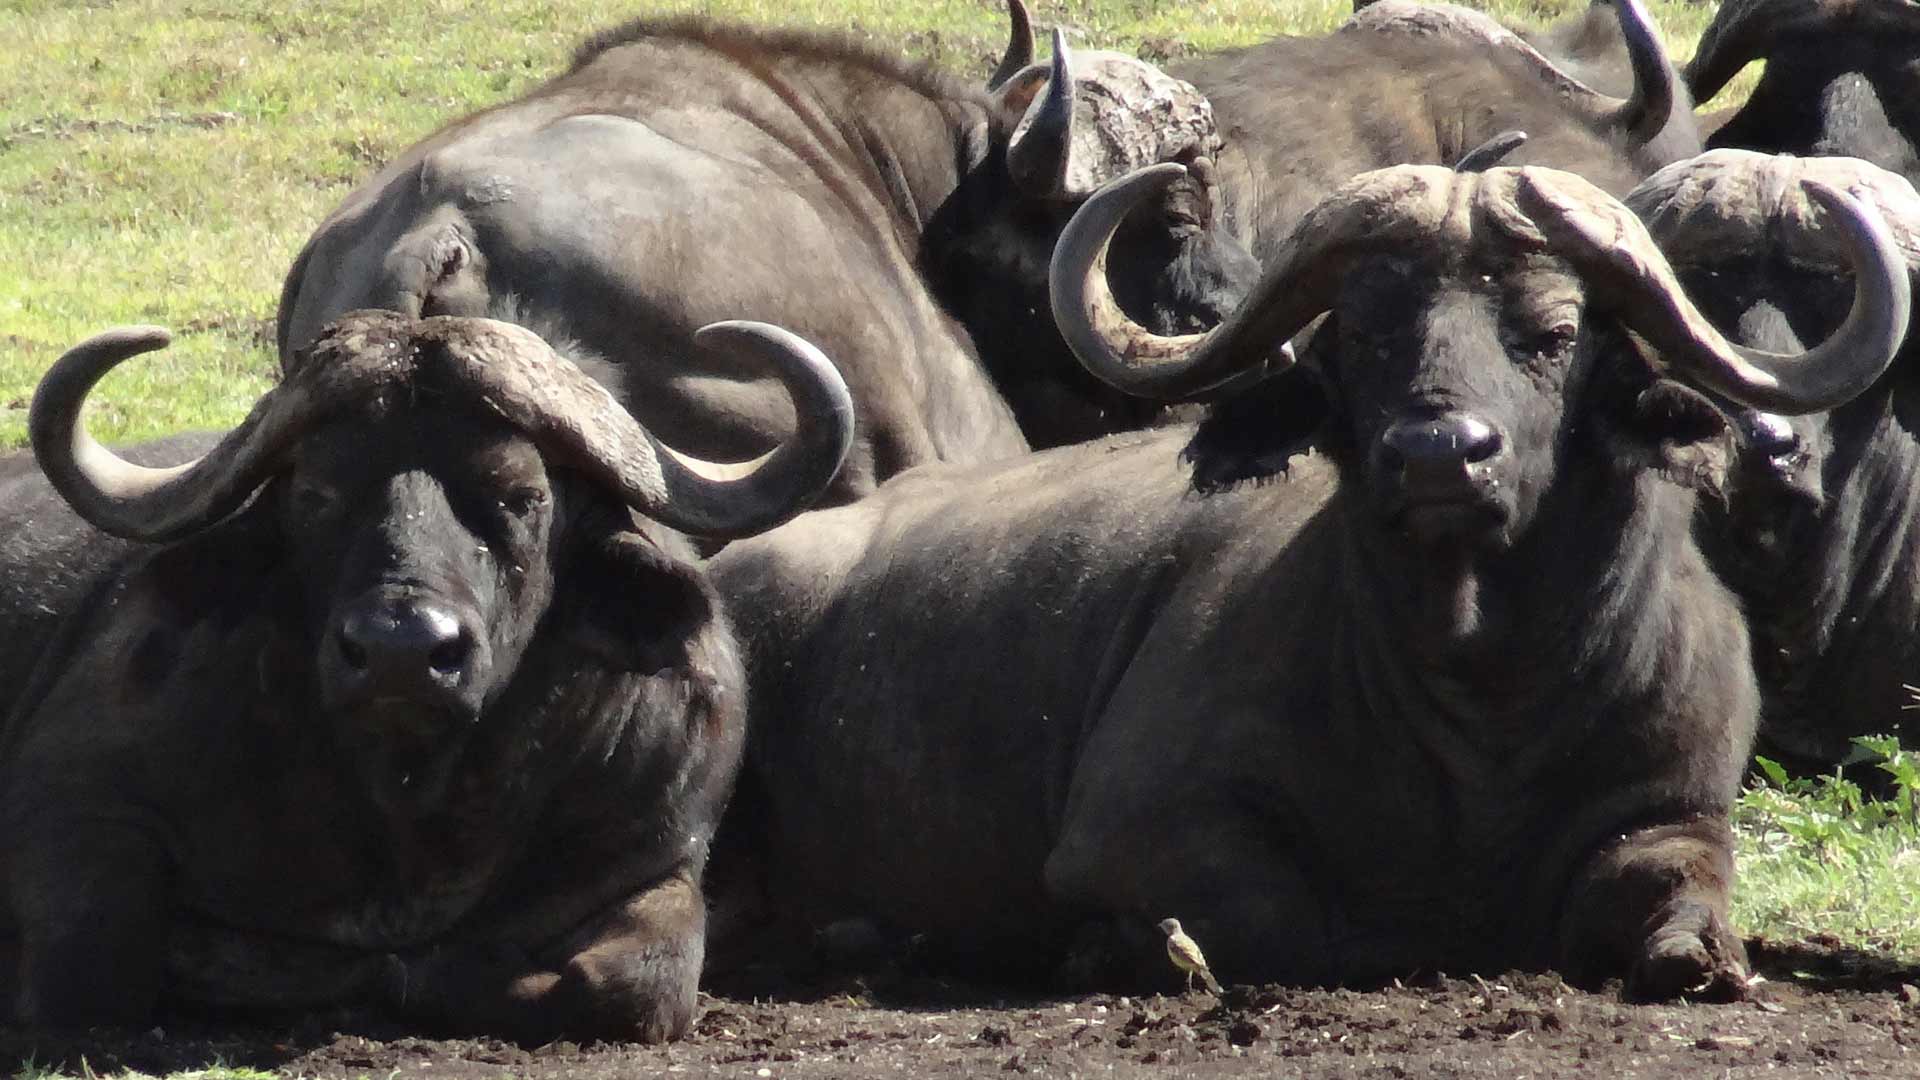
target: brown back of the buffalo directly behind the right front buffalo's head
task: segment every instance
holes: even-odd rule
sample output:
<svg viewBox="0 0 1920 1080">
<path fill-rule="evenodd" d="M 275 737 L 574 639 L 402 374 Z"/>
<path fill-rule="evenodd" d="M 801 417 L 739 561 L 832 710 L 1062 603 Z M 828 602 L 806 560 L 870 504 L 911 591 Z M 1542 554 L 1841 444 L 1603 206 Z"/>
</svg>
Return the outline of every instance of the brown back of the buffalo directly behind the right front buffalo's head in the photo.
<svg viewBox="0 0 1920 1080">
<path fill-rule="evenodd" d="M 1563 104 L 1513 50 L 1453 37 L 1281 37 L 1173 73 L 1213 102 L 1227 146 L 1227 219 L 1261 261 L 1348 179 L 1384 165 L 1453 165 L 1505 131 L 1528 140 L 1503 165 L 1551 165 L 1611 194 L 1699 152 L 1690 113 L 1634 150 L 1622 133 Z"/>
</svg>

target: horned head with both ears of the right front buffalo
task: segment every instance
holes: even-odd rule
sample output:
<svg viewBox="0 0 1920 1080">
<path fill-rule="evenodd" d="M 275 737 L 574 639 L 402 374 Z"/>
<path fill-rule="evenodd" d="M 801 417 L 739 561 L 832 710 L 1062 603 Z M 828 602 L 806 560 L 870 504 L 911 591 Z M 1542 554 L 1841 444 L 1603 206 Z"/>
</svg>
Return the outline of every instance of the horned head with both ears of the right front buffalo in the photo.
<svg viewBox="0 0 1920 1080">
<path fill-rule="evenodd" d="M 1885 227 L 1822 184 L 1809 196 L 1862 267 L 1857 304 L 1822 344 L 1776 356 L 1722 336 L 1638 219 L 1586 181 L 1404 165 L 1315 208 L 1223 325 L 1160 336 L 1125 319 L 1098 265 L 1117 215 L 1173 173 L 1102 190 L 1062 238 L 1054 313 L 1075 352 L 1129 392 L 1223 402 L 1190 450 L 1202 486 L 1271 473 L 1315 436 L 1382 527 L 1428 548 L 1505 548 L 1569 461 L 1684 467 L 1682 448 L 1722 430 L 1701 394 L 1619 363 L 1622 331 L 1697 386 L 1799 413 L 1870 384 L 1907 327 Z M 1311 363 L 1294 365 L 1286 342 L 1321 317 Z"/>
</svg>

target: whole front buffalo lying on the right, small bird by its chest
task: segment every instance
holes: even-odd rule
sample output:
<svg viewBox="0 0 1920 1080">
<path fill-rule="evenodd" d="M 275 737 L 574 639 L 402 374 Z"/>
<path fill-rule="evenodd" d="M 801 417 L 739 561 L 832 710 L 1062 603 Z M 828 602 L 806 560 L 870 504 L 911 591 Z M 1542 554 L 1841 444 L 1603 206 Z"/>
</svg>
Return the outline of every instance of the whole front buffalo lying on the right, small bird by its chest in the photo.
<svg viewBox="0 0 1920 1080">
<path fill-rule="evenodd" d="M 762 803 L 733 824 L 772 896 L 1006 967 L 1108 920 L 1165 982 L 1179 917 L 1229 982 L 1561 965 L 1738 992 L 1759 701 L 1692 538 L 1722 423 L 1636 340 L 1738 400 L 1839 402 L 1905 332 L 1885 233 L 1816 192 L 1862 309 L 1772 357 L 1592 184 L 1394 167 L 1315 208 L 1227 323 L 1164 338 L 1096 267 L 1173 171 L 1079 211 L 1054 298 L 1102 379 L 1213 400 L 1196 430 L 920 469 L 716 557 Z"/>
</svg>

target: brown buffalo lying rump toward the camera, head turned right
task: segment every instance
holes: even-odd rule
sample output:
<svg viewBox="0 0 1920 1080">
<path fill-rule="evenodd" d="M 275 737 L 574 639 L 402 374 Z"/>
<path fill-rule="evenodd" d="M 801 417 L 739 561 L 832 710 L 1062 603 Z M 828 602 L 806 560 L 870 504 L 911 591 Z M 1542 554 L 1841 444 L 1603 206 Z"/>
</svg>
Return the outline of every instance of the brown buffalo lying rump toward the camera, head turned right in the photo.
<svg viewBox="0 0 1920 1080">
<path fill-rule="evenodd" d="M 1156 413 L 1087 377 L 1046 311 L 1073 206 L 1154 161 L 1200 163 L 1204 98 L 1117 54 L 1031 65 L 1025 8 L 989 88 L 839 35 L 637 19 L 526 96 L 403 152 L 313 234 L 282 356 L 353 307 L 497 315 L 570 338 L 639 419 L 716 459 L 793 425 L 764 369 L 693 327 L 818 342 L 858 411 L 831 500 L 922 461 L 983 461 Z M 1043 92 L 1044 88 L 1044 92 Z M 1204 169 L 1196 171 L 1204 175 Z M 1190 183 L 1131 227 L 1129 302 L 1206 325 L 1258 277 Z M 1025 434 L 1023 434 L 1025 432 Z"/>
</svg>

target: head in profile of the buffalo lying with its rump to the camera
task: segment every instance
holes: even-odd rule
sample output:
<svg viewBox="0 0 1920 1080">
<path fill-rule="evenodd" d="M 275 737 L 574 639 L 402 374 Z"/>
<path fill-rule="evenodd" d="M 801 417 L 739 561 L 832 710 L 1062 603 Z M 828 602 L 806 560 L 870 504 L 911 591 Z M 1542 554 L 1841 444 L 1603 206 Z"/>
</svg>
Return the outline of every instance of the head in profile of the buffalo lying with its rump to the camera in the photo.
<svg viewBox="0 0 1920 1080">
<path fill-rule="evenodd" d="M 995 384 L 1035 446 L 1140 427 L 1158 409 L 1110 392 L 1069 357 L 1037 359 L 1054 336 L 1046 265 L 1054 240 L 1102 184 L 1154 163 L 1181 163 L 1117 229 L 1114 290 L 1162 332 L 1208 327 L 1238 306 L 1260 265 L 1231 236 L 1213 160 L 1219 129 L 1206 96 L 1144 60 L 1073 52 L 1054 31 L 1033 63 L 1021 0 L 1008 0 L 1012 42 L 987 86 L 983 154 L 927 223 L 922 263 L 968 323 Z"/>
</svg>

